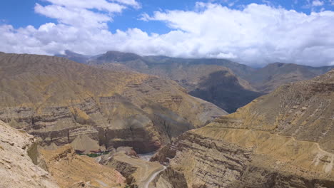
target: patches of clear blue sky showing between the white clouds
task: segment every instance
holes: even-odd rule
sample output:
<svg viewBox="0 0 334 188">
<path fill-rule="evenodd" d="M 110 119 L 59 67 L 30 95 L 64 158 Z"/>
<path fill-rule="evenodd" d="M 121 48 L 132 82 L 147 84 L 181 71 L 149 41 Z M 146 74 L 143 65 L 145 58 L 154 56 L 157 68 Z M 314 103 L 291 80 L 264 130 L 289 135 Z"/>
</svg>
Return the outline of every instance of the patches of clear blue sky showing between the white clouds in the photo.
<svg viewBox="0 0 334 188">
<path fill-rule="evenodd" d="M 152 13 L 158 10 L 192 10 L 194 9 L 197 1 L 193 0 L 169 0 L 169 1 L 156 1 L 156 0 L 143 0 L 140 1 L 141 9 L 126 9 L 121 14 L 116 14 L 113 18 L 113 22 L 108 23 L 111 31 L 116 29 L 126 30 L 127 28 L 141 28 L 148 33 L 167 33 L 171 31 L 165 23 L 159 21 L 152 21 L 150 23 L 139 20 L 141 14 Z M 320 11 L 321 9 L 334 11 L 334 5 L 330 4 L 330 1 L 323 1 L 323 6 L 311 6 L 312 1 L 299 0 L 299 1 L 209 1 L 222 4 L 224 6 L 233 6 L 233 9 L 241 9 L 242 6 L 247 4 L 270 4 L 271 6 L 283 6 L 285 9 L 294 9 L 298 12 L 310 14 L 312 11 Z M 34 11 L 35 4 L 47 5 L 49 4 L 43 0 L 10 0 L 1 1 L 0 6 L 0 19 L 1 23 L 9 23 L 16 28 L 32 25 L 38 27 L 44 23 L 56 22 L 56 19 L 50 19 L 46 16 L 36 14 Z"/>
</svg>

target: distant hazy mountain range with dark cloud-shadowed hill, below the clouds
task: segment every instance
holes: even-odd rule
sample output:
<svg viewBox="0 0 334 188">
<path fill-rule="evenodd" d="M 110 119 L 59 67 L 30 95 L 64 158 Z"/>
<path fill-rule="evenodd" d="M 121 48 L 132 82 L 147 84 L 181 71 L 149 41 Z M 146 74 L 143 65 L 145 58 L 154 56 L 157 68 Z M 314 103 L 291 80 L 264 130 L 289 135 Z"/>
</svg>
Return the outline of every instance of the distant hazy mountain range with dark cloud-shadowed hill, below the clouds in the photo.
<svg viewBox="0 0 334 188">
<path fill-rule="evenodd" d="M 186 88 L 189 94 L 214 103 L 228 113 L 235 112 L 280 85 L 308 80 L 334 68 L 272 63 L 255 69 L 225 59 L 138 56 L 135 53 L 117 51 L 92 57 L 66 51 L 65 55 L 59 56 L 105 69 L 137 71 L 175 80 Z"/>
</svg>

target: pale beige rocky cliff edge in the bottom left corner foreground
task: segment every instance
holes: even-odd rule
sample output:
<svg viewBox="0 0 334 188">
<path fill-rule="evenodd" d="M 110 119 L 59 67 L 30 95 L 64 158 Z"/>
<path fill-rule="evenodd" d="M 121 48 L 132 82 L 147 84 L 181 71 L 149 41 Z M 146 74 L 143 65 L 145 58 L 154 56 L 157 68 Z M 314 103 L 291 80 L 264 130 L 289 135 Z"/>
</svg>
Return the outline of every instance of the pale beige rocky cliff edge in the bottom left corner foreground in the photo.
<svg viewBox="0 0 334 188">
<path fill-rule="evenodd" d="M 46 170 L 34 164 L 36 140 L 0 121 L 0 187 L 59 187 Z"/>
</svg>

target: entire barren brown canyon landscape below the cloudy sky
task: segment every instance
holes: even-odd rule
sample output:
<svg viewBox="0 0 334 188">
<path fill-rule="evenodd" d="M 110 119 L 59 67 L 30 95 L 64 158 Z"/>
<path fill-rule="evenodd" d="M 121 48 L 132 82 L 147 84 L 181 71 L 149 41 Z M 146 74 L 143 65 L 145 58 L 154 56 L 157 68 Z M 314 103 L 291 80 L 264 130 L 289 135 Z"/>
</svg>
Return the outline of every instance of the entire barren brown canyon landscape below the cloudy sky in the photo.
<svg viewBox="0 0 334 188">
<path fill-rule="evenodd" d="M 0 187 L 334 187 L 334 69 L 106 54 L 0 53 Z"/>
</svg>

